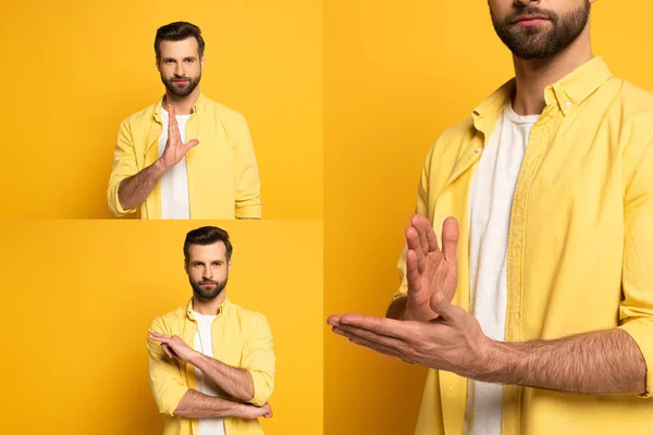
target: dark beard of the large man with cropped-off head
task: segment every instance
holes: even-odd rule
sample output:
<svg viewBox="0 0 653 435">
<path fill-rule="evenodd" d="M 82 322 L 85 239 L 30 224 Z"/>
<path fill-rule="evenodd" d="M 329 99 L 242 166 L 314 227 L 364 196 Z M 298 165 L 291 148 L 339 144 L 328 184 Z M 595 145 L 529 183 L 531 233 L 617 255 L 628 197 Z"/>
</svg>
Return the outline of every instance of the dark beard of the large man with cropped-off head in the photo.
<svg viewBox="0 0 653 435">
<path fill-rule="evenodd" d="M 525 60 L 547 59 L 560 53 L 582 33 L 590 18 L 590 2 L 586 1 L 581 8 L 563 15 L 535 7 L 521 8 L 504 20 L 494 16 L 492 10 L 490 10 L 490 14 L 496 35 L 513 54 Z M 514 24 L 517 17 L 531 14 L 549 18 L 552 28 L 521 27 Z"/>
</svg>

